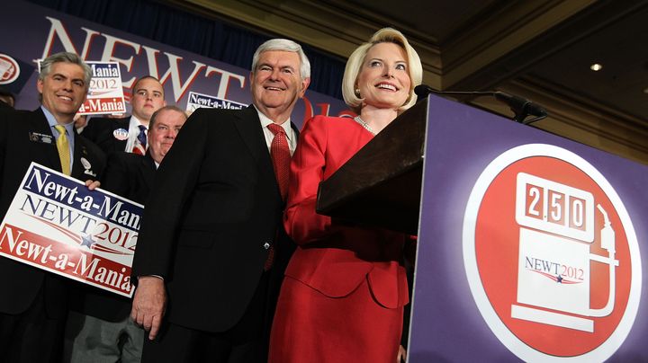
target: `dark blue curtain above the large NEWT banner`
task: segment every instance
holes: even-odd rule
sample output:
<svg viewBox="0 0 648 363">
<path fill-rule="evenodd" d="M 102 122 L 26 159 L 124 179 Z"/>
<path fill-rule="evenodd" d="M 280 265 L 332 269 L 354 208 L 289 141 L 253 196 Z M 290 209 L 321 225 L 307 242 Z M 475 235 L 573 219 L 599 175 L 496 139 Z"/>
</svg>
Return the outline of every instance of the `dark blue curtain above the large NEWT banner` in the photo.
<svg viewBox="0 0 648 363">
<path fill-rule="evenodd" d="M 61 13 L 249 69 L 266 35 L 147 0 L 27 0 Z M 277 34 L 277 37 L 281 37 Z M 342 99 L 345 62 L 302 44 L 311 60 L 312 91 Z"/>
</svg>

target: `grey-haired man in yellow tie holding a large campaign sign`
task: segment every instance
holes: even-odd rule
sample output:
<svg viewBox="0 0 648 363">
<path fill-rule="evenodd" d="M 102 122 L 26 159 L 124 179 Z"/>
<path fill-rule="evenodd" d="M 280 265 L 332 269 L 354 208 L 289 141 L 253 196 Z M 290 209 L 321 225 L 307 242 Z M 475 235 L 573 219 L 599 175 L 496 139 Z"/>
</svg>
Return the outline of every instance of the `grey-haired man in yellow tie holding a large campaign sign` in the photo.
<svg viewBox="0 0 648 363">
<path fill-rule="evenodd" d="M 74 132 L 73 117 L 85 101 L 91 75 L 75 54 L 52 55 L 40 64 L 40 108 L 0 113 L 3 218 L 31 162 L 82 181 L 101 177 L 103 152 Z M 4 257 L 0 276 L 0 360 L 59 359 L 69 280 Z"/>
</svg>

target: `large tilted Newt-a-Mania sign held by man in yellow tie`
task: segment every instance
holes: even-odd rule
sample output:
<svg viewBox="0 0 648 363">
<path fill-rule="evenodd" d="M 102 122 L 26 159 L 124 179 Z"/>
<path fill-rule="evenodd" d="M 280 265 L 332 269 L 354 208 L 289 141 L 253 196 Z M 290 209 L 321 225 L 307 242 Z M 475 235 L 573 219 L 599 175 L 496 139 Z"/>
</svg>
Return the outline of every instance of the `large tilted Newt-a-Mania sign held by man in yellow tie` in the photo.
<svg viewBox="0 0 648 363">
<path fill-rule="evenodd" d="M 143 211 L 138 203 L 31 163 L 0 226 L 0 255 L 131 297 Z"/>
</svg>

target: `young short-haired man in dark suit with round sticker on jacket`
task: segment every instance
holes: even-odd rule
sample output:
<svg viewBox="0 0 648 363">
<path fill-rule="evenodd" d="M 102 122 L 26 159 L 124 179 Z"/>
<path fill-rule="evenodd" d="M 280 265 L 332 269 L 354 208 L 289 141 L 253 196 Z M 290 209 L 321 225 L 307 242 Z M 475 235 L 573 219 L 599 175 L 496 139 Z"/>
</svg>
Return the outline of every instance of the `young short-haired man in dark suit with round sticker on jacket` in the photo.
<svg viewBox="0 0 648 363">
<path fill-rule="evenodd" d="M 83 136 L 94 141 L 106 154 L 125 151 L 146 155 L 148 122 L 153 112 L 166 106 L 164 88 L 152 75 L 133 85 L 130 105 L 132 115 L 121 119 L 94 118 L 88 121 Z"/>
</svg>

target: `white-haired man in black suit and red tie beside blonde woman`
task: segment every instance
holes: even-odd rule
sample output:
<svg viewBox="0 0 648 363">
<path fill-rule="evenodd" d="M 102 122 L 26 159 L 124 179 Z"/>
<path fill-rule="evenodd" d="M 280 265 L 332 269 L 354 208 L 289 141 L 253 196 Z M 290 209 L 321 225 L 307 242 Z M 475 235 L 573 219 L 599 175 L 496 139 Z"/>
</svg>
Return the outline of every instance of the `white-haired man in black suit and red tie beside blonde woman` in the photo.
<svg viewBox="0 0 648 363">
<path fill-rule="evenodd" d="M 132 274 L 144 362 L 266 361 L 268 280 L 291 243 L 275 141 L 281 155 L 294 150 L 289 119 L 310 64 L 293 41 L 268 40 L 250 79 L 253 105 L 194 111 L 157 172 Z"/>
</svg>

